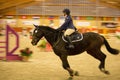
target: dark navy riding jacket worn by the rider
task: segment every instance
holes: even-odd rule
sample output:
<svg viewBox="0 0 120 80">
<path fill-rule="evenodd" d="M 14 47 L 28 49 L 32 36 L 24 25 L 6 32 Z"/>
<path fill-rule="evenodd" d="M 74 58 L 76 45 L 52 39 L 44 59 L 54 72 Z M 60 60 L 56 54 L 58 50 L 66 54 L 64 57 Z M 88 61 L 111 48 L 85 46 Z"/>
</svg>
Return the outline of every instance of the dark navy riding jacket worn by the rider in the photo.
<svg viewBox="0 0 120 80">
<path fill-rule="evenodd" d="M 67 15 L 65 18 L 65 22 L 57 29 L 57 30 L 66 30 L 66 29 L 75 29 L 75 26 L 73 25 L 73 20 L 70 15 Z"/>
</svg>

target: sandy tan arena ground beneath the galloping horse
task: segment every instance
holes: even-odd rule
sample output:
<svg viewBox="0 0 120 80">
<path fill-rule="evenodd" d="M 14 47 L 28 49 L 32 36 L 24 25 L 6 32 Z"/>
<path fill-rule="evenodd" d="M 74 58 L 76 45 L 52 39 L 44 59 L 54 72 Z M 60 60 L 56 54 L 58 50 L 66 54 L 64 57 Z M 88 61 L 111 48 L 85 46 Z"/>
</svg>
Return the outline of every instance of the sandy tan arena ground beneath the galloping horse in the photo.
<svg viewBox="0 0 120 80">
<path fill-rule="evenodd" d="M 120 40 L 108 39 L 110 45 L 120 50 Z M 0 61 L 0 80 L 67 80 L 68 72 L 61 66 L 60 59 L 53 52 L 41 52 L 30 44 L 28 37 L 20 37 L 20 48 L 30 47 L 33 56 L 28 62 Z M 102 51 L 107 55 L 106 70 L 111 74 L 105 75 L 99 69 L 99 61 L 86 52 L 68 57 L 71 68 L 80 74 L 74 80 L 120 80 L 120 54 L 112 55 L 103 46 Z"/>
</svg>

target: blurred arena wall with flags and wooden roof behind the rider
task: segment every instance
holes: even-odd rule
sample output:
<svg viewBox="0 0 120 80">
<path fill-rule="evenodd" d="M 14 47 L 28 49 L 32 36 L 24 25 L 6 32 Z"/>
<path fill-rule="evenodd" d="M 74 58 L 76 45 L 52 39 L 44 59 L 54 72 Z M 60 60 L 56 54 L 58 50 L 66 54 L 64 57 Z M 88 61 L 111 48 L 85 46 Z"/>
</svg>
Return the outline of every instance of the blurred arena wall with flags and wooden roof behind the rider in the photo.
<svg viewBox="0 0 120 80">
<path fill-rule="evenodd" d="M 7 24 L 24 36 L 31 35 L 33 24 L 58 28 L 64 22 L 64 8 L 71 10 L 74 25 L 82 33 L 120 35 L 119 0 L 0 0 L 0 4 L 0 35 Z"/>
</svg>

